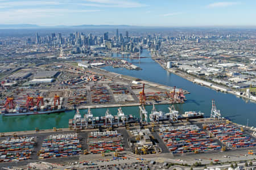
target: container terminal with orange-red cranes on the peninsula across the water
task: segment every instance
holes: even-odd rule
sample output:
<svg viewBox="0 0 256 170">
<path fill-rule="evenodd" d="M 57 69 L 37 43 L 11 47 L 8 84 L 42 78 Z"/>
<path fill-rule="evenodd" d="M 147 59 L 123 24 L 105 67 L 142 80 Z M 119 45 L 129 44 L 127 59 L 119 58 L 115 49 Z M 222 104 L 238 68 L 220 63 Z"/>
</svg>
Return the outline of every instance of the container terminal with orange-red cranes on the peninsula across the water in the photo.
<svg viewBox="0 0 256 170">
<path fill-rule="evenodd" d="M 181 88 L 110 73 L 98 67 L 56 64 L 40 66 L 40 69 L 52 71 L 32 74 L 35 68 L 22 69 L 20 73 L 31 71 L 28 78 L 2 81 L 0 108 L 3 116 L 49 114 L 75 108 L 184 103 L 185 95 L 189 94 Z M 15 86 L 6 86 L 6 82 L 13 82 Z"/>
</svg>

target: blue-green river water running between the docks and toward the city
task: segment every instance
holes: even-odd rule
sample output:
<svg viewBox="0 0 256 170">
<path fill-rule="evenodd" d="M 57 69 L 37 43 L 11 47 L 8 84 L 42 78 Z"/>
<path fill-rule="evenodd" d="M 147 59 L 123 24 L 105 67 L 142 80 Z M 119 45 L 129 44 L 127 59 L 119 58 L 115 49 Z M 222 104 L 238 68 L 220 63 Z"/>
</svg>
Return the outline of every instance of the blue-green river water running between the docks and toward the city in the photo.
<svg viewBox="0 0 256 170">
<path fill-rule="evenodd" d="M 150 56 L 147 50 L 143 50 L 141 56 Z M 113 54 L 117 57 L 117 54 Z M 124 58 L 125 59 L 125 58 Z M 210 116 L 212 99 L 216 101 L 217 109 L 221 110 L 223 117 L 228 117 L 238 124 L 247 124 L 249 126 L 256 126 L 256 103 L 253 101 L 241 99 L 231 94 L 224 94 L 217 92 L 208 87 L 200 86 L 189 82 L 175 74 L 164 70 L 158 63 L 151 58 L 127 59 L 142 68 L 142 70 L 126 70 L 121 68 L 104 67 L 115 73 L 130 75 L 151 82 L 165 84 L 167 86 L 176 86 L 191 92 L 186 95 L 187 101 L 185 104 L 176 104 L 175 108 L 183 113 L 185 111 L 201 111 L 205 116 Z M 168 112 L 168 105 L 156 105 L 156 109 L 163 112 Z M 151 106 L 146 106 L 148 113 L 151 112 Z M 132 114 L 134 117 L 139 116 L 138 107 L 124 107 L 122 108 L 125 114 Z M 110 113 L 117 114 L 117 108 L 109 108 Z M 82 114 L 86 113 L 86 109 L 80 111 Z M 106 108 L 92 109 L 94 116 L 104 116 Z M 0 131 L 24 131 L 39 129 L 68 128 L 68 120 L 73 118 L 75 111 L 67 111 L 65 113 L 42 114 L 33 116 L 14 116 L 3 117 L 0 116 Z"/>
</svg>

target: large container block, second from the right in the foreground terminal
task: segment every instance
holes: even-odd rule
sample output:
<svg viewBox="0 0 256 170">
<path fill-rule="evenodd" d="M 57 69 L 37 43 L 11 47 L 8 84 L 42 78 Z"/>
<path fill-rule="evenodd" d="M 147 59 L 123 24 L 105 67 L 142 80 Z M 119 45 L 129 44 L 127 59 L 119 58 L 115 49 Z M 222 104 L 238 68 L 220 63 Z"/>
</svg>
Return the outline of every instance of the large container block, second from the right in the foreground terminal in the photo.
<svg viewBox="0 0 256 170">
<path fill-rule="evenodd" d="M 220 150 L 214 139 L 196 125 L 160 128 L 160 137 L 173 154 Z"/>
</svg>

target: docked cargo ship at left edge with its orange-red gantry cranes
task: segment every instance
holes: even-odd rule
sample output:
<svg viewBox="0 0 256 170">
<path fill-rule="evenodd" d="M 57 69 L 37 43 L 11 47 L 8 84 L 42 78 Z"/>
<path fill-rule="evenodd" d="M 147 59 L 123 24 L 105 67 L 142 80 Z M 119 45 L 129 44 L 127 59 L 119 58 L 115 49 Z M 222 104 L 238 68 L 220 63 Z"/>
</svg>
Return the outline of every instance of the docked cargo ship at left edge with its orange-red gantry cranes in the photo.
<svg viewBox="0 0 256 170">
<path fill-rule="evenodd" d="M 55 95 L 53 103 L 53 105 L 44 105 L 44 99 L 42 96 L 38 96 L 35 103 L 33 97 L 27 96 L 26 105 L 19 106 L 17 104 L 14 107 L 14 99 L 12 97 L 7 97 L 6 104 L 1 113 L 2 116 L 23 116 L 65 112 L 65 107 L 61 105 L 59 96 Z"/>
</svg>

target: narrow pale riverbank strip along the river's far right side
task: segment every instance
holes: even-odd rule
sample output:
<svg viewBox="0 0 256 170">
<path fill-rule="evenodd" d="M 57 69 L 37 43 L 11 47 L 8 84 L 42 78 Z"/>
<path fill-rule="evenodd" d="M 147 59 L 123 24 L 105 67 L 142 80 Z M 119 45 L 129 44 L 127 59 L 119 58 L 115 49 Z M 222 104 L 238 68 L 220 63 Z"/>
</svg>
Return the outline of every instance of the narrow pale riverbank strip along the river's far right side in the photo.
<svg viewBox="0 0 256 170">
<path fill-rule="evenodd" d="M 184 78 L 184 79 L 187 79 L 187 80 L 189 80 L 190 82 L 195 83 L 195 79 L 199 79 L 199 80 L 205 82 L 205 80 L 202 80 L 202 79 L 200 79 L 200 78 L 193 78 L 193 76 L 191 76 L 191 75 L 189 75 L 189 74 L 186 74 L 186 73 L 182 73 L 181 71 L 178 71 L 178 70 L 176 70 L 176 69 L 166 69 L 166 67 L 165 67 L 164 65 L 162 65 L 158 60 L 155 60 L 155 62 L 157 62 L 164 70 L 167 70 L 167 71 L 169 71 L 170 73 L 173 73 L 173 74 L 175 74 L 175 75 L 177 75 L 177 76 L 180 76 L 180 77 L 182 77 L 182 78 Z M 242 97 L 242 98 L 244 98 L 244 99 L 249 99 L 249 100 L 251 100 L 251 101 L 256 101 L 256 97 L 255 97 L 255 96 L 254 96 L 254 97 L 247 97 L 247 96 L 245 96 L 245 95 L 241 95 L 241 92 L 240 92 L 240 91 L 230 90 L 229 88 L 226 88 L 226 87 L 224 87 L 224 86 L 221 87 L 221 86 L 218 85 L 218 84 L 212 83 L 213 86 L 207 86 L 207 84 L 202 84 L 202 83 L 197 83 L 197 84 L 200 84 L 201 86 L 206 86 L 206 87 L 212 88 L 213 90 L 216 90 L 216 91 L 227 92 L 227 93 L 229 93 L 229 94 L 233 94 L 233 95 L 236 95 L 236 96 L 238 96 L 238 97 Z M 220 88 L 216 88 L 216 87 L 220 87 L 220 88 L 222 88 L 222 89 L 224 89 L 224 90 L 220 90 Z M 226 89 L 226 90 L 225 90 L 225 89 Z"/>
</svg>

